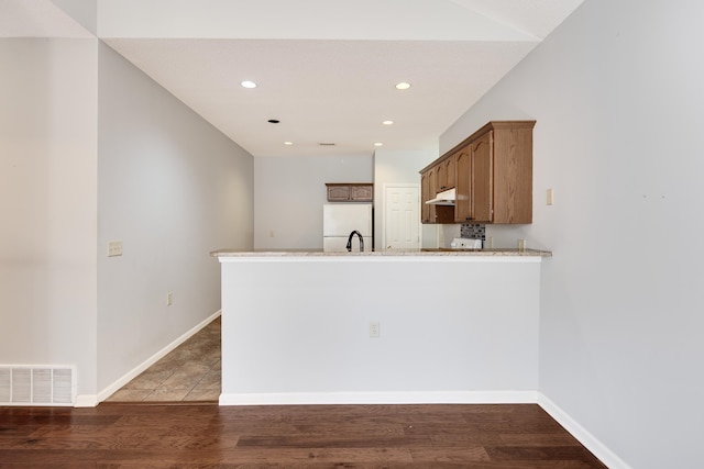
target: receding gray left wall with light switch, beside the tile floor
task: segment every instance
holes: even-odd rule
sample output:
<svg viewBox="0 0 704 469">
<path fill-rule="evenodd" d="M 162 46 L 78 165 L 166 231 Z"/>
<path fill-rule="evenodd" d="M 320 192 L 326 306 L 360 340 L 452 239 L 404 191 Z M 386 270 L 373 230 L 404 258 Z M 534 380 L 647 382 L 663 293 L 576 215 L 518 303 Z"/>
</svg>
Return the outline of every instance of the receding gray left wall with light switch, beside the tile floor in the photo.
<svg viewBox="0 0 704 469">
<path fill-rule="evenodd" d="M 254 205 L 249 153 L 103 44 L 99 65 L 100 390 L 220 309 L 209 253 L 252 248 Z"/>
</svg>

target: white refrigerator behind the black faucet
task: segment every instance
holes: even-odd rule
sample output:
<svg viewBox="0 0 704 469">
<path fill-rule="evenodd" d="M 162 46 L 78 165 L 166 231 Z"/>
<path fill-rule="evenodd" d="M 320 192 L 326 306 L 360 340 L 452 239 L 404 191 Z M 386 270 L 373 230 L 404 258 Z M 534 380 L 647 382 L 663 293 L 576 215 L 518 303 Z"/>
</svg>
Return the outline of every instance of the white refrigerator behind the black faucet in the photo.
<svg viewBox="0 0 704 469">
<path fill-rule="evenodd" d="M 322 250 L 348 250 L 350 233 L 360 232 L 364 238 L 364 250 L 372 250 L 372 204 L 326 203 L 322 205 Z M 352 250 L 360 250 L 360 238 L 352 238 Z"/>
</svg>

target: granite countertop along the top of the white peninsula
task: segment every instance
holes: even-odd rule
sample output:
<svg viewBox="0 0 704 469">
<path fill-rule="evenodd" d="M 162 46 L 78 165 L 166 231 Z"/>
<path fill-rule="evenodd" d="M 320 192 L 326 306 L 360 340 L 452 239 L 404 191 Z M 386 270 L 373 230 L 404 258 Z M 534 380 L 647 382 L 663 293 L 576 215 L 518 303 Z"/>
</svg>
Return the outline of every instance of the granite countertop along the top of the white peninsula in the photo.
<svg viewBox="0 0 704 469">
<path fill-rule="evenodd" d="M 465 257 L 465 256 L 525 256 L 525 257 L 552 257 L 552 252 L 538 249 L 516 249 L 516 248 L 495 248 L 495 249 L 447 249 L 447 248 L 427 248 L 427 249 L 384 249 L 384 250 L 365 250 L 365 252 L 333 252 L 326 253 L 322 249 L 218 249 L 210 253 L 211 257 L 366 257 L 366 256 L 444 256 L 444 257 Z"/>
</svg>

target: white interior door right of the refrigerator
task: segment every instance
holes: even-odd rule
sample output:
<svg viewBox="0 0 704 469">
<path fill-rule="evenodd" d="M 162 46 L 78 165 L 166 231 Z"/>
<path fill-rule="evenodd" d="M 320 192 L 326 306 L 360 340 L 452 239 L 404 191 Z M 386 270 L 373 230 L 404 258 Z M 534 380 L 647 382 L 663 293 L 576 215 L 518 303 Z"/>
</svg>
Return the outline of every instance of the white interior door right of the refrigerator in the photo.
<svg viewBox="0 0 704 469">
<path fill-rule="evenodd" d="M 418 185 L 386 186 L 384 191 L 384 247 L 420 247 L 420 188 Z"/>
</svg>

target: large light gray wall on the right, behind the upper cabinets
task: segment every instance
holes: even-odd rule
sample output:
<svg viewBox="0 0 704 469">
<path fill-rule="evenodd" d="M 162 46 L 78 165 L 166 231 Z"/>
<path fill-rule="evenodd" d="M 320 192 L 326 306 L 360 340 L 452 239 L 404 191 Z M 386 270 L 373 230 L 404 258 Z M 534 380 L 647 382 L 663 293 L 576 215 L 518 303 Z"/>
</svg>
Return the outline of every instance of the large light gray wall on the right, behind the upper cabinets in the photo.
<svg viewBox="0 0 704 469">
<path fill-rule="evenodd" d="M 586 0 L 441 136 L 536 119 L 540 391 L 634 468 L 691 468 L 704 417 L 704 4 Z M 554 205 L 546 205 L 546 189 Z"/>
</svg>

